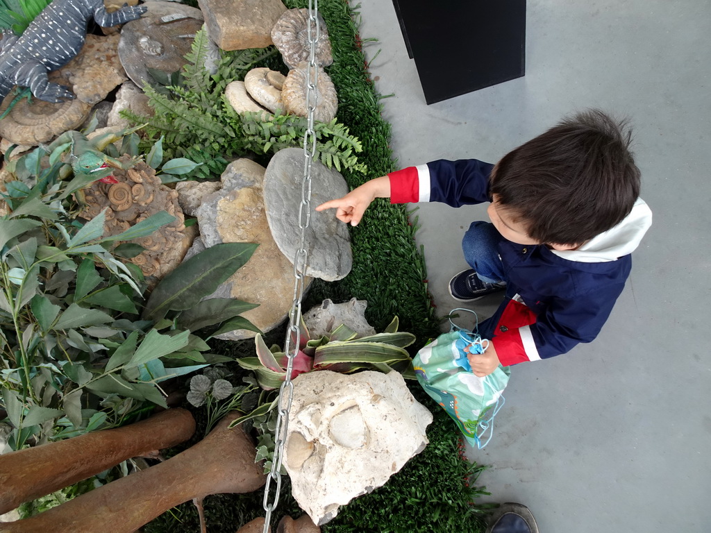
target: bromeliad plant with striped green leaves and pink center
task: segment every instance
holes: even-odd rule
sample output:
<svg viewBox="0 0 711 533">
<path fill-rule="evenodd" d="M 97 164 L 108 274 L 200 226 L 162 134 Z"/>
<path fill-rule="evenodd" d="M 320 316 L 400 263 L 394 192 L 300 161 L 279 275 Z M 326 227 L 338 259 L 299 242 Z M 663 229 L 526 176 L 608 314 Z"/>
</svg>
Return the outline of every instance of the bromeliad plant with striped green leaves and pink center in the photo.
<svg viewBox="0 0 711 533">
<path fill-rule="evenodd" d="M 410 355 L 405 348 L 415 342 L 415 335 L 398 332 L 397 325 L 396 316 L 384 333 L 359 338 L 358 333 L 341 324 L 321 338 L 311 338 L 302 320 L 299 350 L 292 364 L 292 379 L 311 370 L 333 370 L 348 374 L 355 370 L 371 369 L 387 373 L 394 370 L 392 365 L 398 363 L 400 367 L 405 367 L 403 370 L 409 368 Z M 267 348 L 262 335 L 258 333 L 255 346 L 257 357 L 240 357 L 237 363 L 246 370 L 253 370 L 263 389 L 281 387 L 287 375 L 287 354 L 279 351 L 277 345 Z"/>
</svg>

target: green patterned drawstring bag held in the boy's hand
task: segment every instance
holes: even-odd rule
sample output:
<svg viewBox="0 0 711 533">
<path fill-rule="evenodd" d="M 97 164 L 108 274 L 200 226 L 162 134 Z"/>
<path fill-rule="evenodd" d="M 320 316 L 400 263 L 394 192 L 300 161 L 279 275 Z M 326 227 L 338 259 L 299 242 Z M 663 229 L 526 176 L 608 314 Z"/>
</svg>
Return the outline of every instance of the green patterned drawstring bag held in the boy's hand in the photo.
<svg viewBox="0 0 711 533">
<path fill-rule="evenodd" d="M 452 330 L 419 350 L 412 361 L 419 384 L 454 419 L 466 441 L 480 449 L 491 439 L 493 417 L 503 406 L 501 393 L 510 376 L 501 365 L 486 377 L 471 372 L 466 356 L 483 353 L 487 345 L 476 333 Z"/>
</svg>

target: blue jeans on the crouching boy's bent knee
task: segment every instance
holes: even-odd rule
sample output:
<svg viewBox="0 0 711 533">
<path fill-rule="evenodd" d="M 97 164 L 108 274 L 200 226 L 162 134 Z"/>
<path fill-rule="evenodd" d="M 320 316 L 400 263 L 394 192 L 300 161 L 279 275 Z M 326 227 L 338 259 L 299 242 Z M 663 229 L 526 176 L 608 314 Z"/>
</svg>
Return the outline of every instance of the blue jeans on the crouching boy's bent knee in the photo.
<svg viewBox="0 0 711 533">
<path fill-rule="evenodd" d="M 506 281 L 503 273 L 503 264 L 496 247 L 503 241 L 501 233 L 493 227 L 491 222 L 475 220 L 466 230 L 461 248 L 464 250 L 464 259 L 469 266 L 476 270 L 476 275 L 481 281 L 499 283 Z"/>
</svg>

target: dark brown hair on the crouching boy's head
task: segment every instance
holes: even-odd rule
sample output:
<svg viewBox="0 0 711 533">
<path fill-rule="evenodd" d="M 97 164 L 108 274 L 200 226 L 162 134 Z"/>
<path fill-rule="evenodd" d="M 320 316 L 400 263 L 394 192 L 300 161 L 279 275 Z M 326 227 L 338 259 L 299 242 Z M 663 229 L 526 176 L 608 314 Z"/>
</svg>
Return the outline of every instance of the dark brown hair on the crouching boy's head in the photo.
<svg viewBox="0 0 711 533">
<path fill-rule="evenodd" d="M 631 130 L 590 109 L 564 119 L 503 156 L 491 194 L 549 244 L 582 244 L 632 210 L 640 172 L 629 151 Z"/>
</svg>

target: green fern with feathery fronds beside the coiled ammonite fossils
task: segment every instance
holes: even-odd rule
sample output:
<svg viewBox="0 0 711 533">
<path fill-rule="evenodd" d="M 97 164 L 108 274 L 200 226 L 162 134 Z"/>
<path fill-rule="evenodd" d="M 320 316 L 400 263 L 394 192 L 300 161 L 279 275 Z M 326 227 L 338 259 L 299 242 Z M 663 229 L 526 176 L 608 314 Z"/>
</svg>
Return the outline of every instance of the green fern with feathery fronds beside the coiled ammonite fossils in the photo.
<svg viewBox="0 0 711 533">
<path fill-rule="evenodd" d="M 240 115 L 224 95 L 230 82 L 243 80 L 249 70 L 274 58 L 276 50 L 269 47 L 221 52 L 217 72 L 210 75 L 203 67 L 207 39 L 204 31 L 196 34 L 181 75 L 154 72 L 156 82 L 144 87 L 149 105 L 156 111 L 154 117 L 122 112 L 124 117 L 136 123 L 147 122 L 150 139 L 164 136 L 166 153 L 171 157 L 204 163 L 192 174 L 197 178 L 221 173 L 227 165 L 225 158 L 245 156 L 249 151 L 264 154 L 302 146 L 306 119 L 268 113 Z M 314 129 L 317 157 L 321 162 L 337 170 L 365 171 L 355 156 L 363 148 L 346 126 L 334 119 L 328 124 L 317 123 Z"/>
</svg>

